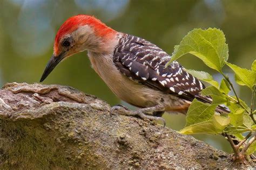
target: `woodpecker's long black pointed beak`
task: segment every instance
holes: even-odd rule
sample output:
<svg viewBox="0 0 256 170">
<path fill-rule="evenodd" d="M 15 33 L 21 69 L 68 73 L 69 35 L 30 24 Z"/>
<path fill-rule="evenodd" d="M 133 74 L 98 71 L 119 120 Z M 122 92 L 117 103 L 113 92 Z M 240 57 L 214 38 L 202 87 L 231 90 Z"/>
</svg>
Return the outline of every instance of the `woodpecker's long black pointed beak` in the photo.
<svg viewBox="0 0 256 170">
<path fill-rule="evenodd" d="M 58 65 L 58 63 L 60 61 L 62 61 L 64 59 L 64 55 L 63 54 L 59 54 L 58 56 L 56 55 L 52 55 L 51 59 L 48 61 L 45 69 L 44 69 L 44 73 L 41 77 L 40 82 L 44 81 L 44 79 L 46 79 L 46 77 L 52 72 L 52 70 Z"/>
</svg>

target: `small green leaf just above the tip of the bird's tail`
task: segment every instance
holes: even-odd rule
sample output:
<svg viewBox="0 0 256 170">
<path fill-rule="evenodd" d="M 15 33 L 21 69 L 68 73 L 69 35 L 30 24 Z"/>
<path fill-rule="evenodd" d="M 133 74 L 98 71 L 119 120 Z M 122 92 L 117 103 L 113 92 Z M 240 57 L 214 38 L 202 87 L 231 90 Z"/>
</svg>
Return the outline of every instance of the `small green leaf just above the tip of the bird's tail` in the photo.
<svg viewBox="0 0 256 170">
<path fill-rule="evenodd" d="M 228 102 L 228 98 L 214 86 L 206 87 L 204 90 L 200 92 L 200 94 L 204 96 L 211 96 L 212 104 L 222 104 Z"/>
</svg>

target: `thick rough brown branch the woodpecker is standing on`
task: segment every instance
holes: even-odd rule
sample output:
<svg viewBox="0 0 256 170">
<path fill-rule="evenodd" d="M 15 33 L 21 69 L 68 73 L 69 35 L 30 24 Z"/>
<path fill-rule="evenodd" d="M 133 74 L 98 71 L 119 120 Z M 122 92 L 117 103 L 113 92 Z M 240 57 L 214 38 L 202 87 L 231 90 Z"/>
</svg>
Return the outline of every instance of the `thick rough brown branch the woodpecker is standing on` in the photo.
<svg viewBox="0 0 256 170">
<path fill-rule="evenodd" d="M 0 90 L 0 169 L 252 168 L 191 136 L 76 89 L 9 83 Z"/>
</svg>

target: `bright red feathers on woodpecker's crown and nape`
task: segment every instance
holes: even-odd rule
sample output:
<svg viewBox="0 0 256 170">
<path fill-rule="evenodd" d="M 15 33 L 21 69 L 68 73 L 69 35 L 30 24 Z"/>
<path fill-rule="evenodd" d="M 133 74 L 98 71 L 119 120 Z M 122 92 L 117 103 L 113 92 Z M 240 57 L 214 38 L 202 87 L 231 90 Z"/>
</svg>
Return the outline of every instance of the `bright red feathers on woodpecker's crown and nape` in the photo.
<svg viewBox="0 0 256 170">
<path fill-rule="evenodd" d="M 93 17 L 93 16 L 88 16 L 88 15 L 77 15 L 70 17 L 67 19 L 62 26 L 60 26 L 56 37 L 55 37 L 55 43 L 54 43 L 54 52 L 57 55 L 59 50 L 59 41 L 60 39 L 68 33 L 71 33 L 78 29 L 79 26 L 83 25 L 90 25 L 94 30 L 97 36 L 99 37 L 108 37 L 112 35 L 114 32 L 113 29 L 110 27 L 106 26 L 104 23 L 102 23 L 99 19 Z"/>
</svg>

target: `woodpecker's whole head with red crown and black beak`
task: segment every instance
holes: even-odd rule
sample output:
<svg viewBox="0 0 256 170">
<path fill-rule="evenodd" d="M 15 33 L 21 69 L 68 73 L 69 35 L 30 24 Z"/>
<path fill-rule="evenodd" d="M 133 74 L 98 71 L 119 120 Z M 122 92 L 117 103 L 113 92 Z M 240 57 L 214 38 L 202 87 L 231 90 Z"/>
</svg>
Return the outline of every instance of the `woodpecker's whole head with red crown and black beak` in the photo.
<svg viewBox="0 0 256 170">
<path fill-rule="evenodd" d="M 92 16 L 77 15 L 70 17 L 60 26 L 51 56 L 40 82 L 51 73 L 63 59 L 85 51 L 109 53 L 111 40 L 117 32 Z"/>
</svg>

